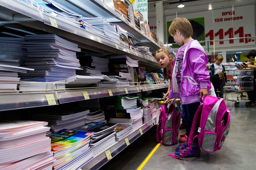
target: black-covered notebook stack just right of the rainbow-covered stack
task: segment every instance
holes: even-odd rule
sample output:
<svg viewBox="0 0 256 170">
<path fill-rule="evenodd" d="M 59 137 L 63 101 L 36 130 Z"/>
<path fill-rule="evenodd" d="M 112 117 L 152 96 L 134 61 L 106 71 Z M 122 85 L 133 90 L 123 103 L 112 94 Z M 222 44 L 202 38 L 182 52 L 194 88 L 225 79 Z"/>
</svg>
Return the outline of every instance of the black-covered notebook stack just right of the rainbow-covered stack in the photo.
<svg viewBox="0 0 256 170">
<path fill-rule="evenodd" d="M 92 148 L 93 153 L 95 154 L 116 141 L 116 125 L 116 123 L 90 122 L 87 125 L 76 129 L 92 132 L 89 145 Z"/>
</svg>

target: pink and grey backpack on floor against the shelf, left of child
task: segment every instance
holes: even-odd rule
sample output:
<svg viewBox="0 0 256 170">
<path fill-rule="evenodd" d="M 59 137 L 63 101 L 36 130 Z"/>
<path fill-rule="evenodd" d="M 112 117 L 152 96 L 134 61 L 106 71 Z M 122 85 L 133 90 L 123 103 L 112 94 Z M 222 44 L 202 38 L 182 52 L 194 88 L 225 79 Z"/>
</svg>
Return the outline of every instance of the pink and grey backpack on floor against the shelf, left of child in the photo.
<svg viewBox="0 0 256 170">
<path fill-rule="evenodd" d="M 176 110 L 175 101 L 176 99 L 172 101 L 169 108 L 167 104 L 160 107 L 159 124 L 156 128 L 157 143 L 165 145 L 177 143 L 180 127 L 180 112 Z"/>
</svg>

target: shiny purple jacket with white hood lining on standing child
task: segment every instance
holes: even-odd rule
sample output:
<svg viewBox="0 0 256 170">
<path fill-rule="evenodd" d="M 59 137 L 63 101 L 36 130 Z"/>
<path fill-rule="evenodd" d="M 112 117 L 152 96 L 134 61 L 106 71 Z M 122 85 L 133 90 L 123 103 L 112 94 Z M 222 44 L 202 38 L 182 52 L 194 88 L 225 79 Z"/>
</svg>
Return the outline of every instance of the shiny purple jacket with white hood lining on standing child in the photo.
<svg viewBox="0 0 256 170">
<path fill-rule="evenodd" d="M 177 51 L 178 53 L 178 51 Z M 176 58 L 172 72 L 171 90 L 169 98 L 180 98 L 176 79 Z M 181 101 L 182 104 L 190 104 L 202 101 L 199 98 L 200 89 L 210 90 L 210 76 L 206 68 L 208 57 L 204 48 L 197 40 L 191 40 L 184 51 L 183 65 L 181 69 Z"/>
</svg>

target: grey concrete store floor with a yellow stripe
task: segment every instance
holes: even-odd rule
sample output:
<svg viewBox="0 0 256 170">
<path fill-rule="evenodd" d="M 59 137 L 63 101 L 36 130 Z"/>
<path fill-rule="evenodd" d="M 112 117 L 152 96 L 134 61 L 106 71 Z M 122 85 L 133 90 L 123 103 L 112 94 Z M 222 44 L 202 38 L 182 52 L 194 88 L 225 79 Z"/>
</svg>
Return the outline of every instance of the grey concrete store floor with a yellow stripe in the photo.
<svg viewBox="0 0 256 170">
<path fill-rule="evenodd" d="M 200 157 L 181 160 L 168 156 L 170 153 L 174 154 L 179 142 L 173 146 L 161 144 L 142 170 L 256 169 L 256 107 L 245 107 L 245 102 L 240 102 L 239 107 L 234 107 L 234 101 L 225 102 L 230 108 L 231 126 L 228 137 L 219 151 L 207 153 L 201 150 Z M 184 132 L 185 130 L 180 130 L 180 133 Z M 140 167 L 156 144 L 154 126 L 100 170 L 135 170 Z"/>
</svg>

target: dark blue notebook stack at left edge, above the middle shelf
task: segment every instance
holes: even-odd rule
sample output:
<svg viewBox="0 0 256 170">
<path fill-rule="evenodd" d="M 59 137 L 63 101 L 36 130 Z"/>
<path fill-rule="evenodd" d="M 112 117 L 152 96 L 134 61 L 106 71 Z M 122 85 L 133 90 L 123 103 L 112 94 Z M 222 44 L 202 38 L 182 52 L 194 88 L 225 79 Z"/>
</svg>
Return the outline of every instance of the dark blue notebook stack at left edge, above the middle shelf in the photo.
<svg viewBox="0 0 256 170">
<path fill-rule="evenodd" d="M 23 65 L 27 51 L 21 49 L 24 38 L 0 37 L 0 63 L 12 66 Z"/>
</svg>

